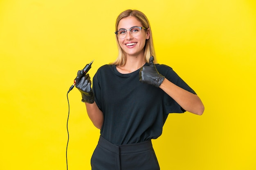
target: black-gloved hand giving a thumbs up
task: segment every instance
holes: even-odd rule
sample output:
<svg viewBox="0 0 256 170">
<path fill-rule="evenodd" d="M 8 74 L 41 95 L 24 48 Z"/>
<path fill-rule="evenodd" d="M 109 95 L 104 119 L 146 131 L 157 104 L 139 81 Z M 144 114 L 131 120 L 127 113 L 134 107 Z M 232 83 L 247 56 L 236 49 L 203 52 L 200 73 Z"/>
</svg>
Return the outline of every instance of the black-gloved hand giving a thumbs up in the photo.
<svg viewBox="0 0 256 170">
<path fill-rule="evenodd" d="M 149 58 L 149 66 L 143 66 L 139 70 L 139 81 L 142 83 L 147 83 L 159 87 L 163 81 L 164 76 L 159 74 L 155 64 L 153 63 L 154 57 Z"/>
</svg>

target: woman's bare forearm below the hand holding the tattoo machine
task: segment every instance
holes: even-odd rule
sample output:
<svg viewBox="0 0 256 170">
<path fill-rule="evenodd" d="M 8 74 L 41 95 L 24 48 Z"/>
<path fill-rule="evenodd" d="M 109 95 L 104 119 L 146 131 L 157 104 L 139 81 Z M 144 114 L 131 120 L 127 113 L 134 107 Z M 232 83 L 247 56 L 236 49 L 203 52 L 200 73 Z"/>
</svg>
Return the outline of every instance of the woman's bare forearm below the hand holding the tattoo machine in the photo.
<svg viewBox="0 0 256 170">
<path fill-rule="evenodd" d="M 102 111 L 99 109 L 99 107 L 96 105 L 95 102 L 92 104 L 85 102 L 85 106 L 86 106 L 88 116 L 92 121 L 92 123 L 94 124 L 94 126 L 97 127 L 98 129 L 101 129 L 101 126 L 103 124 L 103 119 L 104 119 Z"/>
</svg>

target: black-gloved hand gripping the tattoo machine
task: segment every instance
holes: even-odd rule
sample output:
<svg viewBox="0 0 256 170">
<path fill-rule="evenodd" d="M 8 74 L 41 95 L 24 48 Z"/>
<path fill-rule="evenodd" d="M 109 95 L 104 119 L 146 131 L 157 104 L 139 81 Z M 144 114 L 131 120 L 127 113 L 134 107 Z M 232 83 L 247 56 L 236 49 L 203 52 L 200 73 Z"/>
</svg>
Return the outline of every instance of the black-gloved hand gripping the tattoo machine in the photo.
<svg viewBox="0 0 256 170">
<path fill-rule="evenodd" d="M 82 94 L 82 102 L 94 102 L 94 94 L 92 92 L 91 84 L 92 81 L 89 74 L 86 74 L 83 70 L 79 70 L 76 76 L 76 88 Z"/>
</svg>

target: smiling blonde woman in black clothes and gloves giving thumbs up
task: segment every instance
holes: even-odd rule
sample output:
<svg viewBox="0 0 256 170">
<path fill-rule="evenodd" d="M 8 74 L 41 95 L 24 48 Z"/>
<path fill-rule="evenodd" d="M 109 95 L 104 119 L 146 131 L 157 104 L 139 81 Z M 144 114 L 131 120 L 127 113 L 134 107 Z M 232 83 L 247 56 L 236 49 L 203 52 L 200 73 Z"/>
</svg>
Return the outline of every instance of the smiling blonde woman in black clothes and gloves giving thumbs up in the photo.
<svg viewBox="0 0 256 170">
<path fill-rule="evenodd" d="M 117 60 L 93 77 L 80 70 L 76 87 L 94 126 L 101 129 L 92 170 L 159 170 L 151 139 L 162 134 L 168 113 L 202 115 L 200 98 L 167 65 L 154 62 L 152 32 L 137 10 L 116 21 Z"/>
</svg>

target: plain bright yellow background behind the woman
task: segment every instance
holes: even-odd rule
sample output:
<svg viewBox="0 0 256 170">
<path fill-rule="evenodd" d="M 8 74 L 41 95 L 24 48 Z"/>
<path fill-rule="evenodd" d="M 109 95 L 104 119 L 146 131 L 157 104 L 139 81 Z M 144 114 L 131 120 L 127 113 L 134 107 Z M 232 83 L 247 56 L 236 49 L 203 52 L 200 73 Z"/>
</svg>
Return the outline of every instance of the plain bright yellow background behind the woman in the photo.
<svg viewBox="0 0 256 170">
<path fill-rule="evenodd" d="M 139 9 L 159 63 L 200 96 L 153 140 L 162 170 L 256 169 L 255 0 L 0 0 L 0 169 L 65 170 L 67 90 L 117 57 L 115 20 Z M 69 170 L 89 170 L 99 130 L 69 93 Z"/>
</svg>

